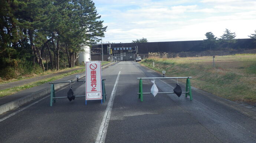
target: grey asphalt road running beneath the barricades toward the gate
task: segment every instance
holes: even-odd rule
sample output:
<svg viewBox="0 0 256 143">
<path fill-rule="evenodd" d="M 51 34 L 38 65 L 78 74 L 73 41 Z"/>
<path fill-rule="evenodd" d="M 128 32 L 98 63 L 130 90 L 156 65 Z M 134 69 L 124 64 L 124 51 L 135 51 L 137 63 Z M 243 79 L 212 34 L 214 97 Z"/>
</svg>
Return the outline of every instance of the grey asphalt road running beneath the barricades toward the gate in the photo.
<svg viewBox="0 0 256 143">
<path fill-rule="evenodd" d="M 99 137 L 105 143 L 256 142 L 254 119 L 196 91 L 193 101 L 184 95 L 178 98 L 174 94 L 156 97 L 148 94 L 140 102 L 137 77 L 159 77 L 159 74 L 136 62 L 113 64 L 102 70 L 102 77 L 106 79 L 108 94 L 104 104 L 95 100 L 85 105 L 84 98 L 71 102 L 57 99 L 50 107 L 46 95 L 20 107 L 20 112 L 16 109 L 0 115 L 0 143 L 88 143 L 96 142 Z M 176 83 L 156 80 L 156 84 L 159 92 L 170 92 Z M 151 86 L 150 80 L 143 80 L 144 92 L 150 92 Z M 75 95 L 85 94 L 84 83 L 73 83 L 72 88 Z M 56 91 L 56 96 L 66 96 L 68 90 L 69 87 L 62 88 Z"/>
</svg>

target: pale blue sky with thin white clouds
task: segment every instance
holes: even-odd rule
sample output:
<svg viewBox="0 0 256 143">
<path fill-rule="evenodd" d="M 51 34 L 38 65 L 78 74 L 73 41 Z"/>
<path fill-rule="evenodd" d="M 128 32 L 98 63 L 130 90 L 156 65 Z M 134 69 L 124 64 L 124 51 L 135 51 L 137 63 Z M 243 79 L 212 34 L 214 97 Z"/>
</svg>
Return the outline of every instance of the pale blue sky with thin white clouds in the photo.
<svg viewBox="0 0 256 143">
<path fill-rule="evenodd" d="M 108 26 L 103 41 L 125 43 L 203 40 L 225 29 L 236 38 L 256 30 L 256 0 L 93 0 Z"/>
</svg>

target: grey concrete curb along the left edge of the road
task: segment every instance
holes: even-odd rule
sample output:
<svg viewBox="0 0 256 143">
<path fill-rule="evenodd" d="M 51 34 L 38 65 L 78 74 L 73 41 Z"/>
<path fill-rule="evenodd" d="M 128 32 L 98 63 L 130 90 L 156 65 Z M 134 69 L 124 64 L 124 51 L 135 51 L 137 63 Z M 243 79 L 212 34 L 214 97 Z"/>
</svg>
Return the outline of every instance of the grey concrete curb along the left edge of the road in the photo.
<svg viewBox="0 0 256 143">
<path fill-rule="evenodd" d="M 109 65 L 111 64 L 114 64 L 115 62 L 112 62 L 112 63 L 109 63 L 109 64 L 106 64 L 104 66 L 102 66 L 101 68 L 105 68 L 105 67 L 108 67 Z M 85 73 L 82 73 L 80 74 L 80 79 L 82 79 L 83 77 L 85 77 Z M 73 78 L 70 78 L 69 80 L 76 80 L 76 77 L 73 77 Z M 61 88 L 61 87 L 64 87 L 66 85 L 68 85 L 69 83 L 60 83 L 60 84 L 55 84 L 54 88 L 55 90 Z M 4 105 L 1 105 L 0 106 L 0 114 L 3 114 L 4 112 L 7 112 L 7 111 L 10 111 L 14 108 L 17 108 L 17 107 L 20 107 L 21 105 L 23 104 L 26 104 L 27 102 L 29 101 L 32 101 L 36 98 L 39 98 L 39 97 L 42 97 L 43 95 L 46 95 L 48 93 L 50 93 L 51 91 L 51 88 L 49 86 L 49 88 L 45 88 L 43 90 L 39 90 L 33 94 L 30 94 L 30 95 L 27 95 L 27 96 L 24 96 L 22 98 L 19 98 L 17 100 L 14 100 L 12 102 L 8 102 Z"/>
</svg>

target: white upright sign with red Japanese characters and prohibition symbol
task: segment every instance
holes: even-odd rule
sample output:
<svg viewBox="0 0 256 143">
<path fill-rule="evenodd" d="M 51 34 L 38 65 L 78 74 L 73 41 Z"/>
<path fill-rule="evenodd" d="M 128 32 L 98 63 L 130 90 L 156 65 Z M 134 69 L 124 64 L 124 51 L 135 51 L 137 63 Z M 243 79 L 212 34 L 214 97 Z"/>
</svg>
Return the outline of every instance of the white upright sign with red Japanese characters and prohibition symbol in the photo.
<svg viewBox="0 0 256 143">
<path fill-rule="evenodd" d="M 101 61 L 86 62 L 86 100 L 101 100 Z"/>
</svg>

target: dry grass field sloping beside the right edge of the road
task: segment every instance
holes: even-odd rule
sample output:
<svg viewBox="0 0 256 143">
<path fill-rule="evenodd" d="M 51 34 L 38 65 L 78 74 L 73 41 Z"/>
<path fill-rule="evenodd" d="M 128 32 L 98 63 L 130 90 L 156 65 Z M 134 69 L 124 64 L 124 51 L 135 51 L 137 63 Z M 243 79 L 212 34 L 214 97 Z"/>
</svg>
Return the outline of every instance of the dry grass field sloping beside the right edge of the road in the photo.
<svg viewBox="0 0 256 143">
<path fill-rule="evenodd" d="M 153 61 L 155 67 L 153 67 Z M 217 96 L 256 106 L 256 54 L 160 58 L 141 62 L 168 77 L 192 76 L 191 84 Z M 185 82 L 184 80 L 181 80 Z"/>
</svg>

